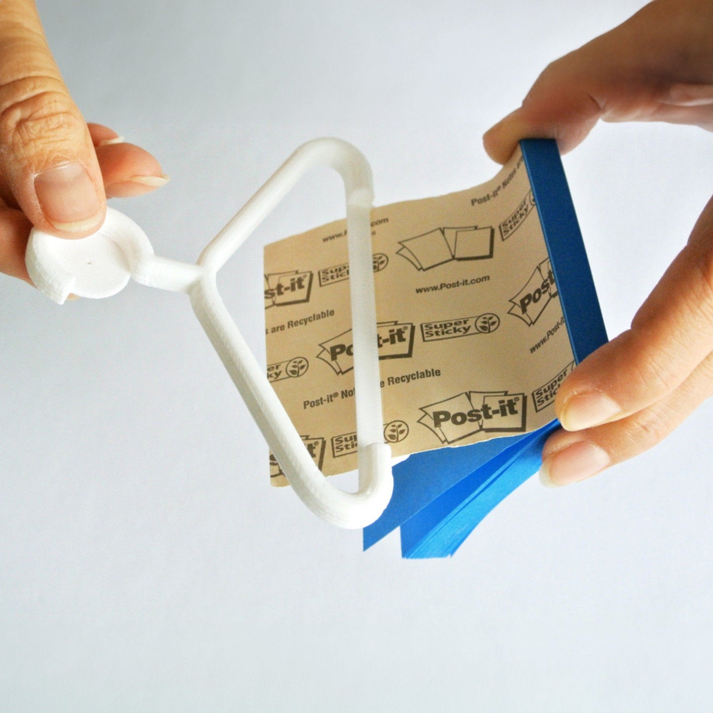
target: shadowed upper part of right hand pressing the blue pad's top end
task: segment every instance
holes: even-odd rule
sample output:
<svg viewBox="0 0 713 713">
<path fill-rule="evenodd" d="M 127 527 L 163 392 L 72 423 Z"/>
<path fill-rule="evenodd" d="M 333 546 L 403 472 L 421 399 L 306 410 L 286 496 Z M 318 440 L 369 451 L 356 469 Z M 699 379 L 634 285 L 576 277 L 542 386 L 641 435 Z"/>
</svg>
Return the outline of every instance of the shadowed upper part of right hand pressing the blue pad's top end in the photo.
<svg viewBox="0 0 713 713">
<path fill-rule="evenodd" d="M 600 118 L 711 128 L 712 91 L 713 3 L 655 0 L 545 68 L 483 144 L 505 163 L 522 138 L 554 138 L 566 153 Z"/>
</svg>

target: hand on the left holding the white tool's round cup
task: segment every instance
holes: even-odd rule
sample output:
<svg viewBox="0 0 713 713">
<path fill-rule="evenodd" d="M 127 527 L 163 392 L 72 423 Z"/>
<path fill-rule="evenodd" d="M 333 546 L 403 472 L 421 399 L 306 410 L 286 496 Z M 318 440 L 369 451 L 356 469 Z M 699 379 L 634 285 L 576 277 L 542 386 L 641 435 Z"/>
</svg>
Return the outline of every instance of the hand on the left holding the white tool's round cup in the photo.
<svg viewBox="0 0 713 713">
<path fill-rule="evenodd" d="M 101 226 L 107 197 L 141 195 L 167 180 L 152 155 L 82 118 L 34 2 L 0 1 L 0 272 L 31 282 L 33 225 L 85 237 Z"/>
</svg>

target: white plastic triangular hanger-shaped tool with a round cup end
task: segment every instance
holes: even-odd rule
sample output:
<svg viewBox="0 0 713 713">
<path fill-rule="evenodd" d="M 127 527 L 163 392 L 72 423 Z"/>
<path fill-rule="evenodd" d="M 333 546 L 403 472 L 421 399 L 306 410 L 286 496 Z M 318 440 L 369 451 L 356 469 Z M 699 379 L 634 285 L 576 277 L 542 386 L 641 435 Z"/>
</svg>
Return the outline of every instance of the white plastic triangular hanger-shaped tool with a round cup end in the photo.
<svg viewBox="0 0 713 713">
<path fill-rule="evenodd" d="M 356 438 L 359 489 L 347 493 L 322 476 L 227 312 L 216 273 L 299 178 L 328 165 L 344 179 L 347 193 L 349 281 L 354 335 Z M 376 336 L 376 306 L 369 214 L 374 200 L 371 169 L 354 146 L 333 138 L 302 145 L 245 207 L 205 247 L 198 263 L 159 257 L 141 228 L 108 208 L 100 230 L 81 240 L 63 240 L 33 230 L 26 263 L 36 286 L 62 304 L 69 294 L 110 297 L 133 277 L 150 287 L 185 292 L 215 351 L 237 386 L 270 450 L 297 495 L 314 513 L 344 528 L 362 528 L 381 515 L 394 487 L 391 448 L 384 443 Z"/>
</svg>

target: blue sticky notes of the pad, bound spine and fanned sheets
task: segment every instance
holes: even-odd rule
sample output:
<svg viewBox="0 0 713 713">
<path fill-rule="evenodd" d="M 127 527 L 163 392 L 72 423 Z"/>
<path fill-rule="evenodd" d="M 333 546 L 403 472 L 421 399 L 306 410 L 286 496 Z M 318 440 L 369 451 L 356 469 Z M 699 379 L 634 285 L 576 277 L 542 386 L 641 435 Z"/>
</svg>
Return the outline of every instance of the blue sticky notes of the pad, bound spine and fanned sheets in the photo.
<svg viewBox="0 0 713 713">
<path fill-rule="evenodd" d="M 520 142 L 575 363 L 607 341 L 592 273 L 555 141 Z M 558 427 L 414 453 L 394 466 L 394 496 L 364 529 L 364 549 L 401 528 L 405 558 L 453 555 L 476 525 L 540 468 Z"/>
</svg>

